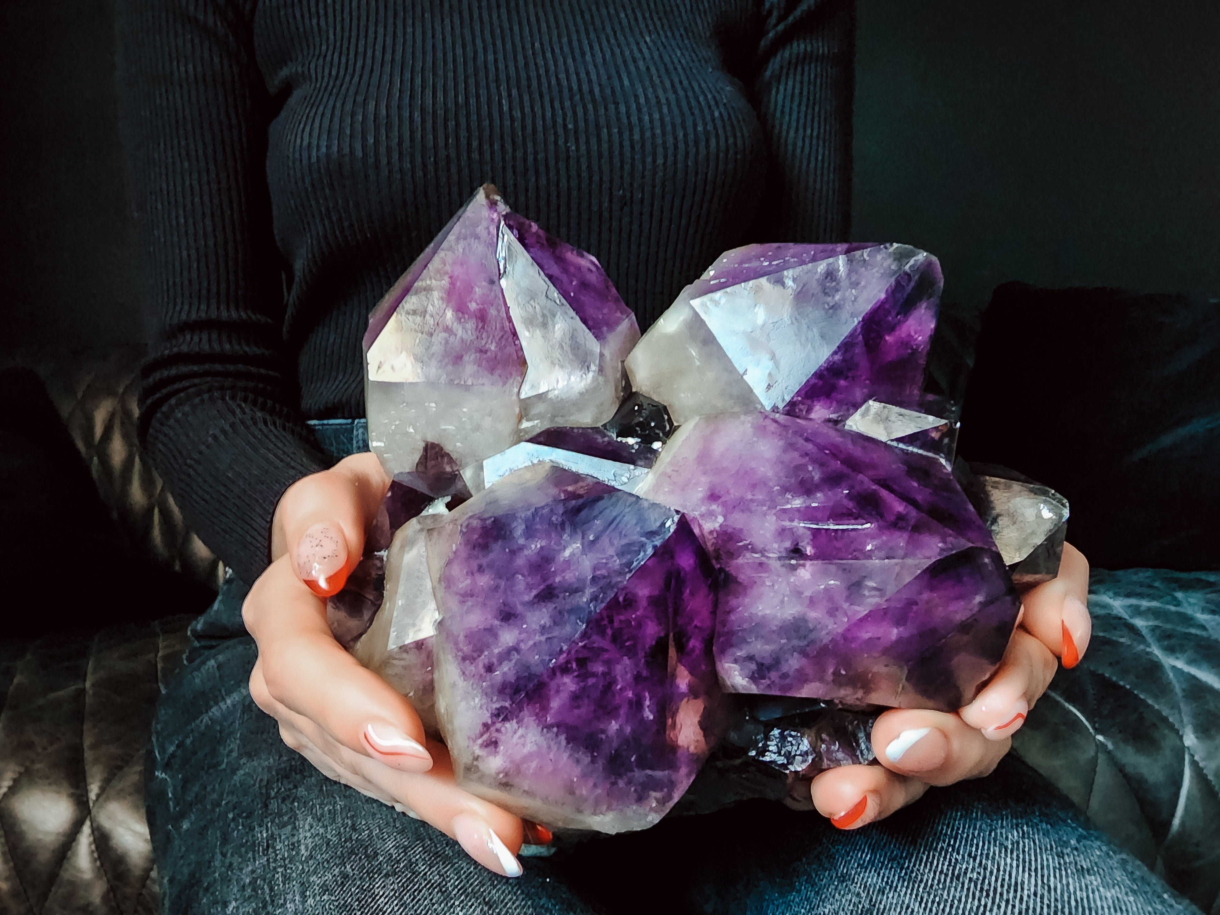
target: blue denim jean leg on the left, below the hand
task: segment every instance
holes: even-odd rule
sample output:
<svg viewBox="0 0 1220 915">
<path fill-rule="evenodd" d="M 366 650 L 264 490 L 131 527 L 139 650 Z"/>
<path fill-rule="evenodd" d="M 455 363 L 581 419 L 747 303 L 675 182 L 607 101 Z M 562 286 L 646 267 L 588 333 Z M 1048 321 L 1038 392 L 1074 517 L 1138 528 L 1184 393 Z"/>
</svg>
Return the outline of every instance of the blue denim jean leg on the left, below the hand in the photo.
<svg viewBox="0 0 1220 915">
<path fill-rule="evenodd" d="M 215 648 L 162 698 L 148 805 L 165 911 L 588 911 L 539 869 L 498 877 L 429 826 L 317 772 L 250 700 L 254 658 L 249 638 Z"/>
</svg>

